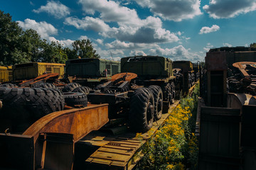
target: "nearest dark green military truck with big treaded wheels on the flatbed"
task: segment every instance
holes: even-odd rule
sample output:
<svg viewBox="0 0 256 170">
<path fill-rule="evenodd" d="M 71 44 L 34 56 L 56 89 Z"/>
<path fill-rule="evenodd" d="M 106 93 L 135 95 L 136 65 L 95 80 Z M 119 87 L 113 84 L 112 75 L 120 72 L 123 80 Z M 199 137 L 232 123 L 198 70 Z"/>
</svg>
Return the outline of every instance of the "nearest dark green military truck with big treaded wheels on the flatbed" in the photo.
<svg viewBox="0 0 256 170">
<path fill-rule="evenodd" d="M 110 120 L 128 120 L 131 130 L 146 132 L 174 103 L 172 61 L 158 56 L 124 57 L 121 71 L 91 91 L 88 100 L 109 103 Z"/>
</svg>

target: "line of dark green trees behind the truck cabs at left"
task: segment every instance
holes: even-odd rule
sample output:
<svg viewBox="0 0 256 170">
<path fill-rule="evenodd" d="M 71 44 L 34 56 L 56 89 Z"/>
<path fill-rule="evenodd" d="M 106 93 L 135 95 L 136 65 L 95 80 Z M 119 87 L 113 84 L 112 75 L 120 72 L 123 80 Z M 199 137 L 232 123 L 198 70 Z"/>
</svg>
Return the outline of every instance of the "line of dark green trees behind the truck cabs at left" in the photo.
<svg viewBox="0 0 256 170">
<path fill-rule="evenodd" d="M 65 63 L 66 60 L 100 58 L 87 40 L 75 40 L 73 48 L 63 47 L 60 42 L 42 40 L 36 30 L 22 30 L 9 13 L 0 10 L 0 65 L 14 65 L 23 62 Z"/>
</svg>

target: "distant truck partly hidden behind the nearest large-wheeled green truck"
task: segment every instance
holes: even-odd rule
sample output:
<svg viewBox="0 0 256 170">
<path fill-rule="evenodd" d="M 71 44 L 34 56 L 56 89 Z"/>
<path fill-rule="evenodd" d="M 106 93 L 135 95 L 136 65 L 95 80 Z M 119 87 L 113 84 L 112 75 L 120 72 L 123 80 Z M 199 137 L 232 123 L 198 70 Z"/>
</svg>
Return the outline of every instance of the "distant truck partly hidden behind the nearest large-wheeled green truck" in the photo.
<svg viewBox="0 0 256 170">
<path fill-rule="evenodd" d="M 193 64 L 190 61 L 174 61 L 174 69 L 181 69 L 183 74 L 181 82 L 181 90 L 183 93 L 188 94 L 188 90 L 195 84 L 195 75 L 193 71 Z"/>
</svg>

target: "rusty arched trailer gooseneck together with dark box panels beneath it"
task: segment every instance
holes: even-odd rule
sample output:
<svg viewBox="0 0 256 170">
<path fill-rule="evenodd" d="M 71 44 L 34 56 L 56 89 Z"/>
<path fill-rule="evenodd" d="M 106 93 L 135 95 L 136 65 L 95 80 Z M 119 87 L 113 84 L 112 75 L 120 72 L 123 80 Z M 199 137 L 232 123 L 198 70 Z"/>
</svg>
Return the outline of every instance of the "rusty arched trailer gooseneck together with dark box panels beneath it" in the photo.
<svg viewBox="0 0 256 170">
<path fill-rule="evenodd" d="M 107 104 L 50 113 L 22 134 L 0 133 L 0 169 L 73 169 L 75 144 L 108 122 Z"/>
</svg>

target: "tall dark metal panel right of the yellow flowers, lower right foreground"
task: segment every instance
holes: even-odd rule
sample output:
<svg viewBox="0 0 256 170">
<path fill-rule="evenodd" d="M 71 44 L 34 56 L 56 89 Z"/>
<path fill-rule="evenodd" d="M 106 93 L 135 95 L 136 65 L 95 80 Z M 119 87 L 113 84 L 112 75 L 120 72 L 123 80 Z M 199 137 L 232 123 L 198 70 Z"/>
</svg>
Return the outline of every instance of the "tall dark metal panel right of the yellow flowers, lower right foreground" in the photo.
<svg viewBox="0 0 256 170">
<path fill-rule="evenodd" d="M 201 107 L 199 169 L 239 169 L 240 109 Z"/>
</svg>

